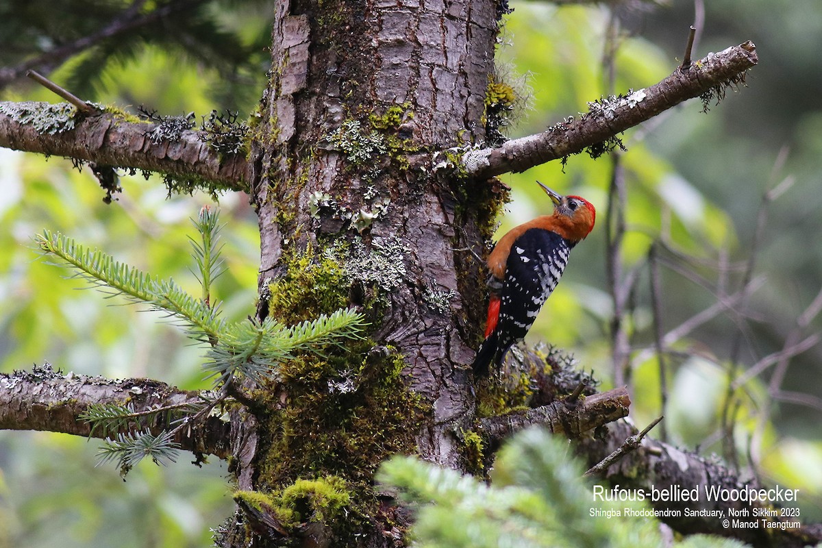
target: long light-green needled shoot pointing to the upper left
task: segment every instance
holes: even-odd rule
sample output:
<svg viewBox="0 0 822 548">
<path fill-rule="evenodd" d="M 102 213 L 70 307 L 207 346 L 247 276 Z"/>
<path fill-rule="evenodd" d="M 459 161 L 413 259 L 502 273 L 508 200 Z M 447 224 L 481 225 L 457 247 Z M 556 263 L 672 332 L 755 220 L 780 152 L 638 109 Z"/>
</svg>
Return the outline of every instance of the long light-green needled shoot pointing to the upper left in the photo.
<svg viewBox="0 0 822 548">
<path fill-rule="evenodd" d="M 194 338 L 218 338 L 219 332 L 224 329 L 217 306 L 207 306 L 183 291 L 172 279 L 153 278 L 136 267 L 114 260 L 103 251 L 92 251 L 61 233 L 44 230 L 36 241 L 42 251 L 57 256 L 76 269 L 77 275 L 93 286 L 109 289 L 112 295 L 122 295 L 132 302 L 145 302 L 182 320 Z"/>
</svg>

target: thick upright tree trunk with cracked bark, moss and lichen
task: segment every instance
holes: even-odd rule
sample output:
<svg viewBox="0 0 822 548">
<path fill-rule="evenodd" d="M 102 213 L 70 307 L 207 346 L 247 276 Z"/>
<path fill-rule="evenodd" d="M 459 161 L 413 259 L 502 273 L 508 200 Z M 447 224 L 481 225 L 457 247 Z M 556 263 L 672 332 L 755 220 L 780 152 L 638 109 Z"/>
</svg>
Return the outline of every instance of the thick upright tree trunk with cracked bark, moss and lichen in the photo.
<svg viewBox="0 0 822 548">
<path fill-rule="evenodd" d="M 466 246 L 490 236 L 492 187 L 424 159 L 483 143 L 496 32 L 489 0 L 278 3 L 252 145 L 258 315 L 293 323 L 357 306 L 370 332 L 252 393 L 242 490 L 332 475 L 362 494 L 397 451 L 466 468 L 455 432 L 473 421 L 483 302 Z M 399 542 L 383 534 L 396 516 L 367 521 L 359 543 Z"/>
</svg>

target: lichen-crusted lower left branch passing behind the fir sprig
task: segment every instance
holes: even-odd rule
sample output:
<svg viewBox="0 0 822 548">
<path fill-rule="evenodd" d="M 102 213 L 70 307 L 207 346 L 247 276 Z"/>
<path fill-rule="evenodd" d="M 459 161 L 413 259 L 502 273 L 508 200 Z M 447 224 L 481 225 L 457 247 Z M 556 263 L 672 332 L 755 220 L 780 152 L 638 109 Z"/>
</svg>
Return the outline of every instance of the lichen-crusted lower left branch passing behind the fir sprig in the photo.
<svg viewBox="0 0 822 548">
<path fill-rule="evenodd" d="M 135 412 L 186 403 L 201 404 L 196 391 L 181 390 L 156 380 L 109 380 L 66 375 L 51 366 L 31 372 L 0 374 L 0 430 L 35 430 L 90 435 L 91 427 L 79 417 L 90 405 L 131 403 Z M 99 437 L 99 431 L 95 432 Z M 229 455 L 230 425 L 208 417 L 202 425 L 181 429 L 174 439 L 182 449 L 198 454 Z"/>
</svg>

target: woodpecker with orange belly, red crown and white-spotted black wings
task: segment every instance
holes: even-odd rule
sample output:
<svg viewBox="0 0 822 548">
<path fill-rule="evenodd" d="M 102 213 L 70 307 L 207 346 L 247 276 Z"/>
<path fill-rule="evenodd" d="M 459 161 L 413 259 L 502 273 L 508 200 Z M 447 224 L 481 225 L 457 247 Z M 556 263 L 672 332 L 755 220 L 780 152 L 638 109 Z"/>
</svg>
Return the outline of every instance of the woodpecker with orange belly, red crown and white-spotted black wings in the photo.
<svg viewBox="0 0 822 548">
<path fill-rule="evenodd" d="M 593 230 L 597 212 L 588 200 L 537 184 L 551 198 L 553 214 L 512 228 L 488 256 L 491 297 L 485 340 L 473 361 L 476 375 L 487 375 L 492 362 L 500 366 L 508 348 L 524 338 L 560 281 L 570 250 Z"/>
</svg>

